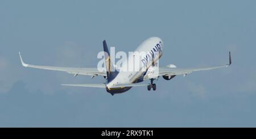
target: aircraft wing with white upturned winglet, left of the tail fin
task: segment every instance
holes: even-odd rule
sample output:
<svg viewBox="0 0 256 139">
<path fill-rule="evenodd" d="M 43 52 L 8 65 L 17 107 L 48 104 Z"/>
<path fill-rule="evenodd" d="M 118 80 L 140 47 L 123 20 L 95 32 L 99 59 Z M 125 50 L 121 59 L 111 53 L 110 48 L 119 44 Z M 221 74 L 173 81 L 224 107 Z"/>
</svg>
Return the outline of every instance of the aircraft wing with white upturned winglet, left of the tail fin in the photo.
<svg viewBox="0 0 256 139">
<path fill-rule="evenodd" d="M 24 67 L 28 67 L 28 68 L 64 71 L 64 72 L 74 74 L 74 75 L 106 76 L 105 71 L 98 71 L 97 68 L 68 68 L 68 67 L 59 67 L 59 66 L 30 65 L 30 64 L 26 64 L 23 62 L 22 57 L 20 56 L 20 52 L 19 52 L 19 57 L 20 57 L 20 61 L 22 62 L 22 65 Z"/>
</svg>

